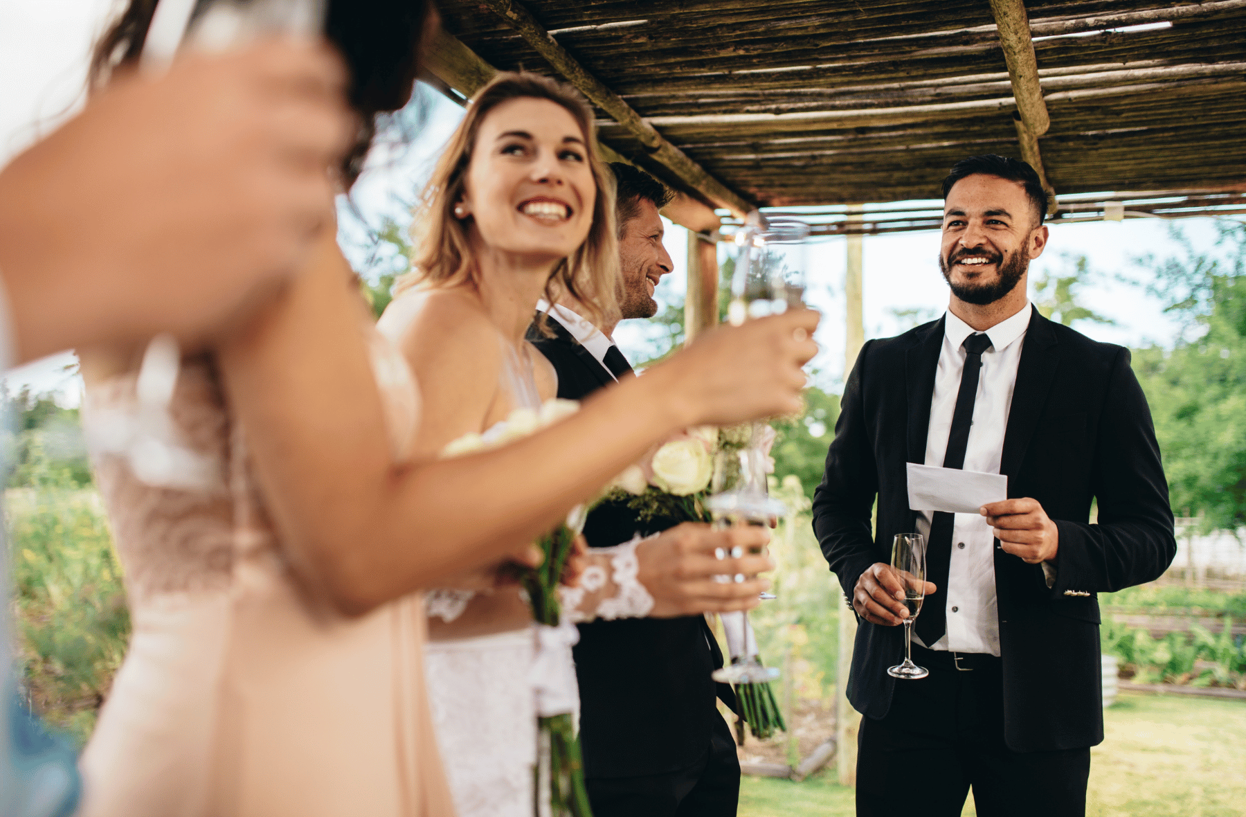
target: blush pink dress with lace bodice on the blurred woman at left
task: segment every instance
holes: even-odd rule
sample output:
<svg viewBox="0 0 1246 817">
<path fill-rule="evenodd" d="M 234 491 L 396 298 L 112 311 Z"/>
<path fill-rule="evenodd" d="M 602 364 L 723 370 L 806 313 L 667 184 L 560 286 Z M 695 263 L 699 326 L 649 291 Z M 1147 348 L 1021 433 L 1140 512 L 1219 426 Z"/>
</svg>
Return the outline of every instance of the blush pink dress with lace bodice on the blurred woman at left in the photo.
<svg viewBox="0 0 1246 817">
<path fill-rule="evenodd" d="M 374 352 L 401 460 L 417 394 L 379 335 Z M 358 619 L 319 603 L 265 514 L 211 361 L 183 364 L 168 410 L 193 486 L 136 476 L 127 452 L 155 431 L 135 376 L 90 387 L 83 406 L 133 635 L 82 755 L 81 815 L 454 815 L 425 699 L 421 597 Z"/>
</svg>

